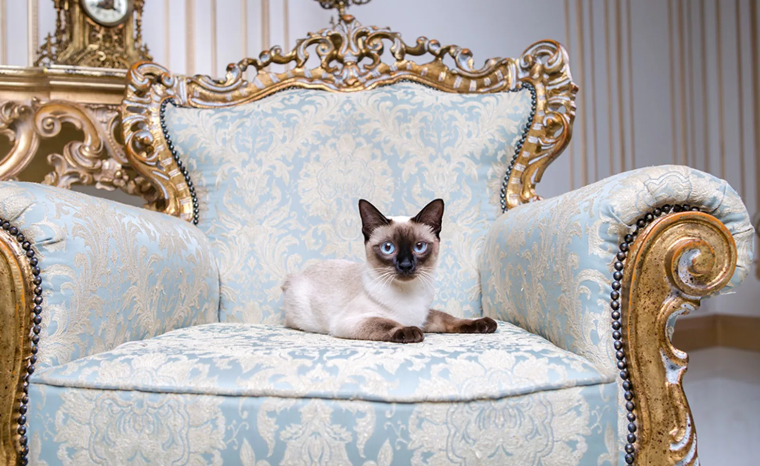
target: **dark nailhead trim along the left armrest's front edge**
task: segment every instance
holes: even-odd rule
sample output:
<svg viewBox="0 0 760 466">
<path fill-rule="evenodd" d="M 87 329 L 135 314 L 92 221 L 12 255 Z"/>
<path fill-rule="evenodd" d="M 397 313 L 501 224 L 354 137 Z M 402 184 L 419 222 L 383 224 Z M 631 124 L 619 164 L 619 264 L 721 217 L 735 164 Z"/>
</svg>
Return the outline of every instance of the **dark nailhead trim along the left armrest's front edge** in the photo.
<svg viewBox="0 0 760 466">
<path fill-rule="evenodd" d="M 27 362 L 26 374 L 22 379 L 24 381 L 21 389 L 24 391 L 24 395 L 21 396 L 21 404 L 18 406 L 18 417 L 16 417 L 16 432 L 21 436 L 19 443 L 21 444 L 21 456 L 18 458 L 18 464 L 28 464 L 29 459 L 29 437 L 27 436 L 27 410 L 29 408 L 29 377 L 34 373 L 34 364 L 37 362 L 37 351 L 40 343 L 40 323 L 42 323 L 43 312 L 43 279 L 40 277 L 40 263 L 37 260 L 36 253 L 33 248 L 33 244 L 29 241 L 21 230 L 17 226 L 8 222 L 8 220 L 0 219 L 0 225 L 2 229 L 8 232 L 8 235 L 14 238 L 14 240 L 21 245 L 21 249 L 26 251 L 27 262 L 32 269 L 32 275 L 34 278 L 32 282 L 34 284 L 34 298 L 32 301 L 32 338 L 31 338 L 31 351 L 32 355 Z"/>
</svg>

